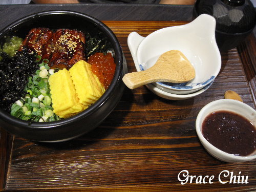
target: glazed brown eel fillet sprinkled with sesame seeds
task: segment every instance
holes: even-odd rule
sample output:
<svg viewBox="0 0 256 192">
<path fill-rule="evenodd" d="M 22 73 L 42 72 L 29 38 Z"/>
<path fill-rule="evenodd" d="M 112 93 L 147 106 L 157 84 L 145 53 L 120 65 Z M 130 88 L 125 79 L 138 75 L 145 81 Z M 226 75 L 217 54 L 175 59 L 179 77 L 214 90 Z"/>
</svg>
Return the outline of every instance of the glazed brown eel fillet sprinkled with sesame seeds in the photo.
<svg viewBox="0 0 256 192">
<path fill-rule="evenodd" d="M 34 28 L 24 39 L 20 51 L 27 48 L 36 52 L 41 59 L 48 59 L 52 69 L 70 69 L 79 60 L 84 60 L 83 32 L 71 29 Z"/>
</svg>

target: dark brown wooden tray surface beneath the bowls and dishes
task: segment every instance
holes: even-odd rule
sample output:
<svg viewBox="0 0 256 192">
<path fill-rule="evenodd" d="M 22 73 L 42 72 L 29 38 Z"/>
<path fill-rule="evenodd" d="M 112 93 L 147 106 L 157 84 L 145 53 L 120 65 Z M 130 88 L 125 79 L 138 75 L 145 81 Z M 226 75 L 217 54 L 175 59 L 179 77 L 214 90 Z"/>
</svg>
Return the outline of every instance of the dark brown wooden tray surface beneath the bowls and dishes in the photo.
<svg viewBox="0 0 256 192">
<path fill-rule="evenodd" d="M 173 21 L 105 21 L 117 35 L 128 72 L 136 71 L 127 36 L 142 36 Z M 209 155 L 195 130 L 202 107 L 236 91 L 255 109 L 255 37 L 250 34 L 238 48 L 222 52 L 222 68 L 212 86 L 194 98 L 172 101 L 145 86 L 125 89 L 109 117 L 95 130 L 62 143 L 40 143 L 8 134 L 0 128 L 0 191 L 255 191 L 256 160 L 224 163 Z M 75 129 L 75 127 L 74 127 Z M 214 176 L 212 184 L 178 175 Z M 248 176 L 248 183 L 229 183 L 230 177 Z M 240 173 L 241 172 L 241 173 Z M 184 179 L 184 178 L 183 178 Z"/>
</svg>

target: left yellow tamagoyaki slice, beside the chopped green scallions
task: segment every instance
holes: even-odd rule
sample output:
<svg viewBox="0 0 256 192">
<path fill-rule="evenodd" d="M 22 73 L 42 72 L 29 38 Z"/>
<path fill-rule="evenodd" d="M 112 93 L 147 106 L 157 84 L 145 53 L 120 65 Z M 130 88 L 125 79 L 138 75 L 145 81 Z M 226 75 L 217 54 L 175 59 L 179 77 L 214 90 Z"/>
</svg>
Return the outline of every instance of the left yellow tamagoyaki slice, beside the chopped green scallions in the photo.
<svg viewBox="0 0 256 192">
<path fill-rule="evenodd" d="M 59 70 L 51 75 L 49 84 L 53 112 L 60 118 L 73 116 L 88 108 L 79 102 L 68 70 Z"/>
</svg>

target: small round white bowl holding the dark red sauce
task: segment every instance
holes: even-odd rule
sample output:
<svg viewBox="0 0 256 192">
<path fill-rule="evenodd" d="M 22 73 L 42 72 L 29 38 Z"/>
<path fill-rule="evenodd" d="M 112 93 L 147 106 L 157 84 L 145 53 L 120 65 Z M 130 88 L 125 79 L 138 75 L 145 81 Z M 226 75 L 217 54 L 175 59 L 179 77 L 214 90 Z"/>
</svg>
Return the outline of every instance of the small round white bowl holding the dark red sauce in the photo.
<svg viewBox="0 0 256 192">
<path fill-rule="evenodd" d="M 225 162 L 244 162 L 255 159 L 256 150 L 249 156 L 236 156 L 219 150 L 219 148 L 215 147 L 204 138 L 202 134 L 202 123 L 207 115 L 216 111 L 230 111 L 237 113 L 248 119 L 254 126 L 256 124 L 256 111 L 243 102 L 233 99 L 220 99 L 208 103 L 199 112 L 196 120 L 197 135 L 206 151 L 215 158 Z"/>
</svg>

